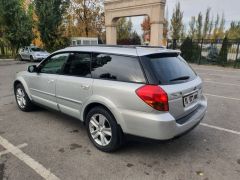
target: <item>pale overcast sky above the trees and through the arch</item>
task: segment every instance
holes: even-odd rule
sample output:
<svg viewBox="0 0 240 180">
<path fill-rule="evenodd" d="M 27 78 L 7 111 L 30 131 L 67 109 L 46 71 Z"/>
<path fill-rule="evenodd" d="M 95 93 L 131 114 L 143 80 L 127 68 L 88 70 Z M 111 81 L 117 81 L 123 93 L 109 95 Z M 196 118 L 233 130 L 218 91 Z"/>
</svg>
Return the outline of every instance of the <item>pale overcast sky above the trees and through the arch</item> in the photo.
<svg viewBox="0 0 240 180">
<path fill-rule="evenodd" d="M 224 12 L 226 19 L 226 27 L 231 21 L 240 21 L 240 0 L 166 0 L 166 10 L 168 9 L 168 16 L 171 19 L 174 7 L 177 2 L 181 3 L 181 9 L 184 12 L 183 22 L 188 26 L 190 18 L 197 16 L 201 11 L 205 14 L 208 7 L 211 8 L 211 15 L 216 17 L 217 13 Z M 166 11 L 165 11 L 166 12 Z M 141 34 L 141 22 L 143 17 L 132 18 L 134 30 Z"/>
</svg>

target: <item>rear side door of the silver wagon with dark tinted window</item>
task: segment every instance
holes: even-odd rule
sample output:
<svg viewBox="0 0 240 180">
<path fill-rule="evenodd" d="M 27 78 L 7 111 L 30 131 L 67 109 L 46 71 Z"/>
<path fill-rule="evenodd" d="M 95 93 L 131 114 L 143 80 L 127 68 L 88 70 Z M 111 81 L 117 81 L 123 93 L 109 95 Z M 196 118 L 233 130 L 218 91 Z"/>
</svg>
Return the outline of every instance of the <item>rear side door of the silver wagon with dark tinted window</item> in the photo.
<svg viewBox="0 0 240 180">
<path fill-rule="evenodd" d="M 92 94 L 90 63 L 91 53 L 71 53 L 63 74 L 56 83 L 60 110 L 78 119 L 84 102 Z"/>
</svg>

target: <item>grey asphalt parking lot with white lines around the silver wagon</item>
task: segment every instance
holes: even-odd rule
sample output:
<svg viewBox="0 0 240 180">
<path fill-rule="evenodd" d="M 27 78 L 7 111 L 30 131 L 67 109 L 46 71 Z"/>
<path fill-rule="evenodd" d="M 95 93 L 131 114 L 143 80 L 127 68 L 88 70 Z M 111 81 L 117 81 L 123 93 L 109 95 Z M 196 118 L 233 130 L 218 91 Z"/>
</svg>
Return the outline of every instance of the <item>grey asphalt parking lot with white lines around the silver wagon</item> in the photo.
<svg viewBox="0 0 240 180">
<path fill-rule="evenodd" d="M 209 104 L 202 124 L 176 140 L 129 142 L 107 154 L 76 119 L 18 110 L 12 82 L 28 65 L 0 61 L 0 180 L 240 179 L 240 70 L 193 65 Z"/>
</svg>

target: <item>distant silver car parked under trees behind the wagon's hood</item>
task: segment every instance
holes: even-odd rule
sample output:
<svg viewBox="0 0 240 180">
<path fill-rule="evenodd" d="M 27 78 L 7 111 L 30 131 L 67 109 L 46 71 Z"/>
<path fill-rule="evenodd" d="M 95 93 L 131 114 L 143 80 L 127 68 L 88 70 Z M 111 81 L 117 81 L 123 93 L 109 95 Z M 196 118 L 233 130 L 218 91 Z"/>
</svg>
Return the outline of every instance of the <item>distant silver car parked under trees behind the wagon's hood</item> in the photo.
<svg viewBox="0 0 240 180">
<path fill-rule="evenodd" d="M 50 54 L 35 46 L 26 46 L 22 49 L 20 49 L 19 54 L 17 55 L 17 60 L 29 60 L 29 61 L 42 61 L 46 57 L 48 57 Z"/>
</svg>

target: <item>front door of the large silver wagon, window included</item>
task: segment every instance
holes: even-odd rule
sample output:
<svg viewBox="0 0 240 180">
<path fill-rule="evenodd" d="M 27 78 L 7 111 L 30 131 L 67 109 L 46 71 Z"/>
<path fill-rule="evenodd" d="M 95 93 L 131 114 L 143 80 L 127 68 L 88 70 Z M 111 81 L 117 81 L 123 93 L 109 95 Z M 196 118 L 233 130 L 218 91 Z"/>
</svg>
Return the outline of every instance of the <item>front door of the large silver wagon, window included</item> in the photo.
<svg viewBox="0 0 240 180">
<path fill-rule="evenodd" d="M 39 65 L 38 73 L 31 74 L 29 88 L 34 102 L 59 110 L 56 102 L 56 81 L 68 56 L 68 53 L 50 56 Z"/>
</svg>

